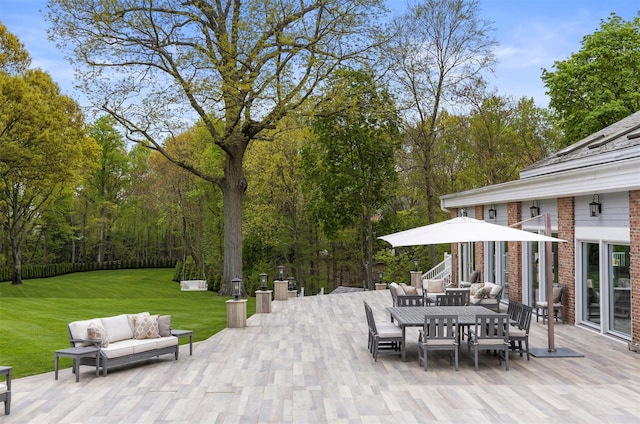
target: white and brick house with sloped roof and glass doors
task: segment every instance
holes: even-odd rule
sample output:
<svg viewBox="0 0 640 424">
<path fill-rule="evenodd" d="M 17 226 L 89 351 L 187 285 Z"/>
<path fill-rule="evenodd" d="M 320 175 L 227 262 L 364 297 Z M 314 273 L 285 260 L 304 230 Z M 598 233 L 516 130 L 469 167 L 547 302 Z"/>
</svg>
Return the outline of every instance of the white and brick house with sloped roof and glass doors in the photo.
<svg viewBox="0 0 640 424">
<path fill-rule="evenodd" d="M 640 343 L 640 112 L 523 169 L 520 179 L 448 194 L 441 207 L 543 232 L 549 214 L 554 283 L 567 287 L 566 322 Z M 524 222 L 523 222 L 524 221 Z M 545 298 L 544 243 L 453 245 L 454 281 L 481 271 L 504 299 Z M 459 259 L 459 260 L 456 260 Z"/>
</svg>

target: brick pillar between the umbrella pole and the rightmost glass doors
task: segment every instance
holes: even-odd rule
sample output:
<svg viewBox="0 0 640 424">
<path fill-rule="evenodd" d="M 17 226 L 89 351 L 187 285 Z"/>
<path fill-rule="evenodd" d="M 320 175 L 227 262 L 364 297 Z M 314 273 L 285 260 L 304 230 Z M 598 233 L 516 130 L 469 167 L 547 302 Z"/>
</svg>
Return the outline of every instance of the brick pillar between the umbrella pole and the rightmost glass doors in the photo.
<svg viewBox="0 0 640 424">
<path fill-rule="evenodd" d="M 566 284 L 565 322 L 575 322 L 576 269 L 575 269 L 575 198 L 558 199 L 558 238 L 567 243 L 558 243 L 558 282 Z"/>
</svg>

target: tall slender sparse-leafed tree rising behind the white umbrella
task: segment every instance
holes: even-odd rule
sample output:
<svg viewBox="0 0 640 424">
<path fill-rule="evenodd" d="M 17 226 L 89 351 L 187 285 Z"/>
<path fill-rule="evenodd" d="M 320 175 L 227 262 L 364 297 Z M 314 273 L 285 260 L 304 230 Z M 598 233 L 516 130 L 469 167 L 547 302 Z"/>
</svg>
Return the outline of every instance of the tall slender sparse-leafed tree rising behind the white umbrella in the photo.
<svg viewBox="0 0 640 424">
<path fill-rule="evenodd" d="M 436 221 L 442 194 L 436 192 L 432 172 L 438 115 L 445 105 L 459 104 L 459 94 L 495 62 L 493 28 L 479 15 L 478 0 L 422 0 L 392 27 L 387 56 L 406 111 L 406 134 L 422 169 L 427 223 Z"/>
</svg>

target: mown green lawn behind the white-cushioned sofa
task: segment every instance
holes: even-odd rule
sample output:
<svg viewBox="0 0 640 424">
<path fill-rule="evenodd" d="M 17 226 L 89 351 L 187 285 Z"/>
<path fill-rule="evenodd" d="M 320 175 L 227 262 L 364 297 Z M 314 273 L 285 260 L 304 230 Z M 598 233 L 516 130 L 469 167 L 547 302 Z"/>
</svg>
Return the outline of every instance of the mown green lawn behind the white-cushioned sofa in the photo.
<svg viewBox="0 0 640 424">
<path fill-rule="evenodd" d="M 0 283 L 0 365 L 14 376 L 53 371 L 53 352 L 69 347 L 71 321 L 137 313 L 171 315 L 171 327 L 204 340 L 227 325 L 226 301 L 217 293 L 182 292 L 173 269 L 94 271 Z M 249 298 L 247 314 L 255 312 Z M 181 343 L 188 343 L 187 338 Z M 71 360 L 60 366 L 71 366 Z"/>
</svg>

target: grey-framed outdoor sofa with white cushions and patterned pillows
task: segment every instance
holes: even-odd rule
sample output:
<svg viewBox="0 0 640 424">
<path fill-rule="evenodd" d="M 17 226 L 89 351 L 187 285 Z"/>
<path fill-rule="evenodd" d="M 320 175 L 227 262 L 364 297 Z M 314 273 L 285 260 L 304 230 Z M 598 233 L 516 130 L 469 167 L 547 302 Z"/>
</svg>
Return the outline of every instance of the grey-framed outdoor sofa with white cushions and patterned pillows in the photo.
<svg viewBox="0 0 640 424">
<path fill-rule="evenodd" d="M 178 338 L 171 335 L 171 315 L 121 314 L 68 324 L 71 347 L 100 349 L 102 373 L 111 367 L 171 354 L 178 359 Z M 96 366 L 96 356 L 80 358 L 79 365 Z"/>
</svg>

